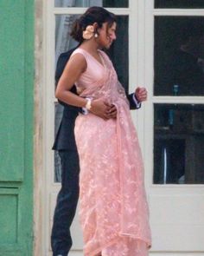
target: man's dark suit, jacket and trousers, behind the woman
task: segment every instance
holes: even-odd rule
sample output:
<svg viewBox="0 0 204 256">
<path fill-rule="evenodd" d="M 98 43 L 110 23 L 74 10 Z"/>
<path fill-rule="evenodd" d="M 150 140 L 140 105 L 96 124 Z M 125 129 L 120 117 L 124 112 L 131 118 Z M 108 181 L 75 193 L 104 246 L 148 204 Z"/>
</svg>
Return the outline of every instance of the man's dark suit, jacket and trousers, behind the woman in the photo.
<svg viewBox="0 0 204 256">
<path fill-rule="evenodd" d="M 61 54 L 57 62 L 55 82 L 59 81 L 66 63 L 74 49 Z M 72 92 L 76 94 L 73 86 Z M 127 95 L 131 109 L 135 109 L 136 103 L 132 95 Z M 71 246 L 70 226 L 76 211 L 79 198 L 79 156 L 74 139 L 74 123 L 80 108 L 60 102 L 64 106 L 61 125 L 54 141 L 54 150 L 58 150 L 61 157 L 61 191 L 57 197 L 54 211 L 54 224 L 51 236 L 53 255 L 67 255 Z"/>
</svg>

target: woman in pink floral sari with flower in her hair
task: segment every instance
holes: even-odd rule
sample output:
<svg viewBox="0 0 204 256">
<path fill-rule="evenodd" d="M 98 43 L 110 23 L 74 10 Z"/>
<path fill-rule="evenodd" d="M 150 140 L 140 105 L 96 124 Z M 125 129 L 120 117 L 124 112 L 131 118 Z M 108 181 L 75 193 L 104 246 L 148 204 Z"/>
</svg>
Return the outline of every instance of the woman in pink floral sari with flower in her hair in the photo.
<svg viewBox="0 0 204 256">
<path fill-rule="evenodd" d="M 80 155 L 80 222 L 86 256 L 144 256 L 150 247 L 143 161 L 129 103 L 112 62 L 100 49 L 116 39 L 116 18 L 91 7 L 71 35 L 80 42 L 61 75 L 56 97 L 92 109 L 103 99 L 117 118 L 79 115 L 75 138 Z M 77 85 L 78 95 L 70 89 Z"/>
</svg>

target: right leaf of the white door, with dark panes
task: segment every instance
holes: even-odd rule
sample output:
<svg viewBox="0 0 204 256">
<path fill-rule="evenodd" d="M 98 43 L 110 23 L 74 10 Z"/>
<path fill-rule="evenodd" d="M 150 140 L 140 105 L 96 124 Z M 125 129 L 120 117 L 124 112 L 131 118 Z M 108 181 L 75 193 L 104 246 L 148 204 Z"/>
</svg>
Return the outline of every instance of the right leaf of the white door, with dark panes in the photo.
<svg viewBox="0 0 204 256">
<path fill-rule="evenodd" d="M 204 255 L 204 2 L 145 1 L 153 255 Z"/>
</svg>

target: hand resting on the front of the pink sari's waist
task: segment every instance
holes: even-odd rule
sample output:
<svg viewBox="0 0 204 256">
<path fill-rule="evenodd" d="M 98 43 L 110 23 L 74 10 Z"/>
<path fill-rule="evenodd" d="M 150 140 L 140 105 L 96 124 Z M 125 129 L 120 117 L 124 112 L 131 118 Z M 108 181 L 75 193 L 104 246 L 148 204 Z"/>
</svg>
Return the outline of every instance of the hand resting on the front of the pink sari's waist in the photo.
<svg viewBox="0 0 204 256">
<path fill-rule="evenodd" d="M 92 108 L 89 111 L 104 120 L 115 119 L 117 117 L 117 108 L 101 99 L 92 101 Z"/>
</svg>

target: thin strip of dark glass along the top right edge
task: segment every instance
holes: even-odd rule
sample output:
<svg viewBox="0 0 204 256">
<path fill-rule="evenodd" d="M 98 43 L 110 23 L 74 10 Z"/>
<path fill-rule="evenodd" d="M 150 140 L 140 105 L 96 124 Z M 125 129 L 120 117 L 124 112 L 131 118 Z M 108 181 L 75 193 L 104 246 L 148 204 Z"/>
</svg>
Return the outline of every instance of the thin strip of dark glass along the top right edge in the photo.
<svg viewBox="0 0 204 256">
<path fill-rule="evenodd" d="M 203 0 L 156 0 L 155 8 L 204 8 Z"/>
</svg>

